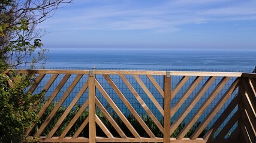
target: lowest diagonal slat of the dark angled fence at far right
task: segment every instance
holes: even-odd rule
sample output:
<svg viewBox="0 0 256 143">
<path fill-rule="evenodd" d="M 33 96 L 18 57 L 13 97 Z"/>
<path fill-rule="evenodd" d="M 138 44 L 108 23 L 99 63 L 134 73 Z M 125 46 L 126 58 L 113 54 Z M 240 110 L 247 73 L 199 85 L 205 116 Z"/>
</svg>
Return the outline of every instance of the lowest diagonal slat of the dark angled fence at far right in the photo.
<svg viewBox="0 0 256 143">
<path fill-rule="evenodd" d="M 248 119 L 248 115 L 246 114 L 246 111 L 242 111 L 242 120 L 243 123 L 245 123 L 246 130 L 248 131 L 249 137 L 252 141 L 256 141 L 256 132 L 255 129 L 252 128 L 251 120 Z"/>
</svg>

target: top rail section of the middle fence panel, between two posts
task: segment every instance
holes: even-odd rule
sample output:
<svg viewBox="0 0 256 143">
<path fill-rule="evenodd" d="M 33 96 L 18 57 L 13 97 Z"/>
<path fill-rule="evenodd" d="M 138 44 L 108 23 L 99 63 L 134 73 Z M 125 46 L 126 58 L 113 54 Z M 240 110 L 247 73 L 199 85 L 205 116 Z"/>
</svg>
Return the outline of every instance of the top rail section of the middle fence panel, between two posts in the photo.
<svg viewBox="0 0 256 143">
<path fill-rule="evenodd" d="M 95 70 L 94 74 L 129 74 L 129 75 L 166 75 L 166 71 L 143 71 L 143 70 Z"/>
</svg>

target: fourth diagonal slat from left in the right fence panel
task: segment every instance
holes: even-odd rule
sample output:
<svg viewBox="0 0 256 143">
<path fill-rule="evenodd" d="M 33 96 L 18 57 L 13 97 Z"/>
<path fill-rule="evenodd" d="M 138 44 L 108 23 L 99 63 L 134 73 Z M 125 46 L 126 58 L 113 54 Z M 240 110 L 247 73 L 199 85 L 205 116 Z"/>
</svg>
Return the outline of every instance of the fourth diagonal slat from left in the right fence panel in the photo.
<svg viewBox="0 0 256 143">
<path fill-rule="evenodd" d="M 188 123 L 186 123 L 185 127 L 180 131 L 179 135 L 177 135 L 177 139 L 183 138 L 189 129 L 192 128 L 192 126 L 197 122 L 201 114 L 203 114 L 204 110 L 210 105 L 210 103 L 214 100 L 216 95 L 221 91 L 221 89 L 225 86 L 225 84 L 228 82 L 230 77 L 223 77 L 222 80 L 218 83 L 218 85 L 213 89 L 212 93 L 209 95 L 209 97 L 204 100 L 203 104 L 198 108 L 197 112 L 194 114 L 194 116 L 191 117 Z"/>
</svg>

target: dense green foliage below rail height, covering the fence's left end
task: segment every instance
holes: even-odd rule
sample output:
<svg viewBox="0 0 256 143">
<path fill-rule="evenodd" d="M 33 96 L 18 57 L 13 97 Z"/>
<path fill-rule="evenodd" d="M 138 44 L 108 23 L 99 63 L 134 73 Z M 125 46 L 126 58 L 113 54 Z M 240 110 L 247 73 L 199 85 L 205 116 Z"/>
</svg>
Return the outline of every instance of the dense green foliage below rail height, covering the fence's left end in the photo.
<svg viewBox="0 0 256 143">
<path fill-rule="evenodd" d="M 8 82 L 13 81 L 10 84 Z M 34 103 L 43 98 L 44 91 L 28 92 L 34 78 L 29 75 L 0 73 L 0 142 L 20 142 L 31 124 L 38 122 Z"/>
</svg>

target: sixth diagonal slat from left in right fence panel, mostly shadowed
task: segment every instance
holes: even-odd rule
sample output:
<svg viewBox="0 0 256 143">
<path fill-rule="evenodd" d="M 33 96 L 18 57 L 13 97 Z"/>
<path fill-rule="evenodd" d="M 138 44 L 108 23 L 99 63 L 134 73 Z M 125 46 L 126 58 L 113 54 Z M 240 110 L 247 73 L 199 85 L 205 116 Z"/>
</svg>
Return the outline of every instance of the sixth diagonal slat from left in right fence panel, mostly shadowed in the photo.
<svg viewBox="0 0 256 143">
<path fill-rule="evenodd" d="M 227 119 L 227 117 L 230 115 L 231 111 L 233 111 L 234 108 L 236 107 L 236 105 L 239 103 L 240 99 L 241 99 L 241 96 L 236 95 L 236 97 L 230 102 L 230 104 L 228 104 L 227 108 L 225 108 L 225 110 L 223 111 L 221 116 L 219 116 L 219 118 L 216 120 L 216 122 L 213 123 L 212 127 L 203 136 L 204 140 L 208 140 L 210 138 L 210 136 L 212 136 L 213 133 L 215 133 L 216 130 L 218 130 L 219 126 L 221 126 L 221 124 L 224 122 L 224 120 Z"/>
</svg>

